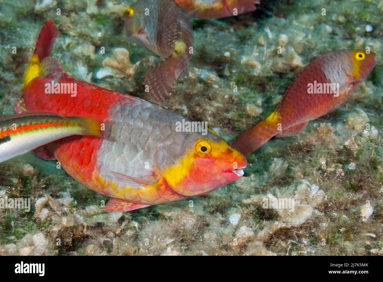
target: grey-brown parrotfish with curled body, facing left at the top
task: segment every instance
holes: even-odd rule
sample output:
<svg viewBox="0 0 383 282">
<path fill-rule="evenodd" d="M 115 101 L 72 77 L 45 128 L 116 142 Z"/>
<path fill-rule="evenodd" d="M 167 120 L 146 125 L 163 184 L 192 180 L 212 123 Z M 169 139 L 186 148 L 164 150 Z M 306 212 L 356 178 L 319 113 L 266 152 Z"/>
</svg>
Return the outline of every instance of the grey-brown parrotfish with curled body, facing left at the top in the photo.
<svg viewBox="0 0 383 282">
<path fill-rule="evenodd" d="M 160 56 L 162 62 L 146 74 L 146 92 L 164 101 L 180 75 L 189 75 L 193 56 L 193 27 L 174 0 L 139 0 L 124 13 L 128 40 L 136 41 Z"/>
</svg>

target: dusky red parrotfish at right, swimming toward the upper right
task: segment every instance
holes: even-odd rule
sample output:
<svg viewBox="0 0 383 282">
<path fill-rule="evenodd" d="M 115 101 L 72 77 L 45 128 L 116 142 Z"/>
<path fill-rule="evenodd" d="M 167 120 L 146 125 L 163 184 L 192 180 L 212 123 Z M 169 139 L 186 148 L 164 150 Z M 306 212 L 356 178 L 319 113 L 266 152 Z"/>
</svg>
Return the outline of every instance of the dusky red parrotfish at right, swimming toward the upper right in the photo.
<svg viewBox="0 0 383 282">
<path fill-rule="evenodd" d="M 375 64 L 375 53 L 364 50 L 336 50 L 323 54 L 298 74 L 277 109 L 239 135 L 231 146 L 247 156 L 274 136 L 300 133 L 310 120 L 342 106 Z"/>
</svg>

